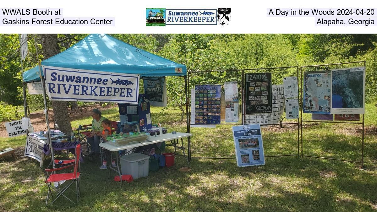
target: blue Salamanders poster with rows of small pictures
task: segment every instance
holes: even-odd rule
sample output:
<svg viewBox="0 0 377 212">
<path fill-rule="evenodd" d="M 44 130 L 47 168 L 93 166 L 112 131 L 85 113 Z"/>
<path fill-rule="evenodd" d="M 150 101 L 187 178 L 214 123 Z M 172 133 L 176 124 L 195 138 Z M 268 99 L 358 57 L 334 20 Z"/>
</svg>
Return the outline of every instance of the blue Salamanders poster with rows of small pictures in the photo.
<svg viewBox="0 0 377 212">
<path fill-rule="evenodd" d="M 221 85 L 195 86 L 195 124 L 220 124 Z"/>
</svg>

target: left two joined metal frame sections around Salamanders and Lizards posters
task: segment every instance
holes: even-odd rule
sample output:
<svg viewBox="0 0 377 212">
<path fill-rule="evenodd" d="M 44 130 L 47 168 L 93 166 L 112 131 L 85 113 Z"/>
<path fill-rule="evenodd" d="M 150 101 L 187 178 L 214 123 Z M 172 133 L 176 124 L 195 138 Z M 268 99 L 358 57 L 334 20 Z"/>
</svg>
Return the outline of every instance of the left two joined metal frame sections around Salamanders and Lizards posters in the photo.
<svg viewBox="0 0 377 212">
<path fill-rule="evenodd" d="M 271 72 L 273 70 L 277 70 L 277 69 L 291 69 L 291 68 L 296 68 L 296 76 L 297 76 L 297 80 L 299 79 L 299 66 L 285 66 L 285 67 L 274 67 L 274 68 L 253 68 L 253 69 L 231 69 L 231 70 L 218 70 L 218 71 L 213 71 L 213 70 L 208 70 L 208 71 L 195 71 L 195 72 L 190 72 L 188 71 L 187 72 L 187 83 L 185 83 L 185 86 L 186 86 L 186 92 L 187 90 L 190 90 L 190 84 L 189 84 L 189 78 L 190 78 L 190 74 L 195 74 L 195 73 L 208 73 L 208 72 L 234 72 L 234 71 L 241 71 L 241 124 L 243 125 L 245 123 L 245 120 L 246 120 L 246 115 L 245 115 L 245 71 L 247 72 L 250 72 L 250 71 L 258 71 L 258 70 L 265 70 L 265 71 L 268 71 L 268 72 Z M 255 72 L 257 73 L 257 72 Z M 186 96 L 187 97 L 187 96 Z M 298 97 L 297 97 L 298 98 Z M 190 101 L 191 102 L 191 98 L 190 100 L 188 98 L 186 98 L 186 108 L 188 107 L 189 110 L 188 110 L 188 113 L 187 113 L 187 126 L 188 126 L 188 132 L 190 133 L 190 115 L 191 115 L 191 104 L 190 105 L 187 105 L 187 101 Z M 299 101 L 299 108 L 300 108 L 300 101 Z M 190 114 L 189 114 L 190 113 Z M 239 123 L 220 123 L 220 124 L 231 124 L 231 125 L 237 125 Z M 298 158 L 300 158 L 300 114 L 299 114 L 299 118 L 297 118 L 297 122 L 292 122 L 292 123 L 282 123 L 282 125 L 285 125 L 285 124 L 297 124 L 297 154 L 284 154 L 284 155 L 265 155 L 265 157 L 284 157 L 284 156 L 297 156 Z M 280 124 L 263 124 L 262 126 L 268 126 L 268 125 L 280 125 Z M 196 159 L 236 159 L 235 157 L 234 158 L 231 158 L 231 157 L 191 157 L 191 140 L 189 139 L 188 141 L 188 155 L 189 155 L 189 161 L 191 162 L 191 158 L 196 158 Z"/>
</svg>

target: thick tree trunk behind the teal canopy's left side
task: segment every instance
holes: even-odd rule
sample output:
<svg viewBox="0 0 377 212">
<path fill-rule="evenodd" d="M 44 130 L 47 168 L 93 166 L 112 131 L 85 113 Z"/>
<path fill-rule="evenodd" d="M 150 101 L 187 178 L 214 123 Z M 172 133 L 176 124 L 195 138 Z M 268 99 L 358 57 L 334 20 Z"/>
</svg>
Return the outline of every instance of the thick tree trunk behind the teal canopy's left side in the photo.
<svg viewBox="0 0 377 212">
<path fill-rule="evenodd" d="M 41 44 L 43 50 L 43 58 L 46 60 L 56 54 L 60 53 L 58 46 L 57 34 L 41 34 Z M 67 101 L 51 101 L 52 110 L 54 112 L 54 123 L 58 125 L 54 129 L 58 129 L 61 132 L 70 135 L 72 132 L 72 126 L 70 124 Z"/>
</svg>

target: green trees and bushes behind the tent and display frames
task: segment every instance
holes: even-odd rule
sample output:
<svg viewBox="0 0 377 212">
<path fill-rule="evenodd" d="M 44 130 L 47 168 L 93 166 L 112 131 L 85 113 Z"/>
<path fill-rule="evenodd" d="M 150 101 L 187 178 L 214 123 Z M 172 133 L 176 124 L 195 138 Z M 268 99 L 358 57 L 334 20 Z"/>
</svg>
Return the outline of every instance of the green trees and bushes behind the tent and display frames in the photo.
<svg viewBox="0 0 377 212">
<path fill-rule="evenodd" d="M 61 51 L 74 45 L 87 34 L 58 34 Z M 111 34 L 137 49 L 182 63 L 189 71 L 307 66 L 366 60 L 366 100 L 377 100 L 376 34 Z M 37 65 L 33 38 L 29 34 L 29 54 L 24 69 Z M 38 42 L 40 43 L 40 42 Z M 43 60 L 41 52 L 38 58 Z M 135 51 L 137 49 L 135 48 Z M 0 101 L 21 105 L 21 65 L 17 34 L 0 34 Z M 296 69 L 273 72 L 274 83 Z M 215 84 L 238 80 L 240 72 L 193 74 L 190 85 Z M 167 77 L 169 106 L 184 105 L 182 78 Z M 141 86 L 142 87 L 142 86 Z M 28 95 L 31 108 L 38 109 L 41 96 Z M 35 104 L 35 105 L 33 105 Z"/>
</svg>

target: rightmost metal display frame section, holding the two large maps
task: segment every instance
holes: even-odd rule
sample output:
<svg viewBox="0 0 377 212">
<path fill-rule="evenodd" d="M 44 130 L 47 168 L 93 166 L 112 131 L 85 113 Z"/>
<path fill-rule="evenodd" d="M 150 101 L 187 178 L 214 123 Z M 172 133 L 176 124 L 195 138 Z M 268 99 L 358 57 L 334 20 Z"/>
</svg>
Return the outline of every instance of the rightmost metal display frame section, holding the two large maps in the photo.
<svg viewBox="0 0 377 212">
<path fill-rule="evenodd" d="M 300 100 L 303 101 L 303 78 L 302 78 L 302 71 L 304 69 L 318 69 L 321 67 L 329 67 L 329 66 L 344 66 L 347 64 L 357 64 L 362 63 L 364 67 L 366 67 L 366 61 L 355 61 L 355 62 L 347 62 L 347 63 L 331 63 L 331 64 L 322 64 L 322 65 L 313 65 L 313 66 L 301 66 L 300 67 L 300 84 L 301 84 L 301 91 L 300 91 Z M 350 67 L 352 68 L 352 67 Z M 324 70 L 324 69 L 323 69 Z M 320 71 L 320 70 L 307 70 L 307 71 Z M 362 114 L 362 121 L 355 121 L 355 122 L 349 122 L 349 121 L 320 121 L 320 120 L 303 120 L 303 102 L 302 102 L 302 108 L 301 108 L 301 158 L 303 157 L 311 157 L 311 158 L 322 158 L 327 160 L 338 160 L 338 161 L 347 161 L 347 162 L 353 162 L 353 163 L 361 163 L 361 167 L 364 166 L 364 114 Z M 303 122 L 312 122 L 312 123 L 340 123 L 340 124 L 362 124 L 362 146 L 361 146 L 361 161 L 352 161 L 352 160 L 345 160 L 345 159 L 339 159 L 339 158 L 329 158 L 329 157 L 323 157 L 323 156 L 315 156 L 315 155 L 304 155 L 303 154 Z"/>
</svg>

